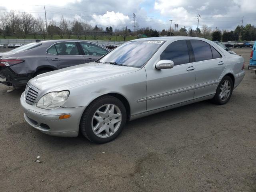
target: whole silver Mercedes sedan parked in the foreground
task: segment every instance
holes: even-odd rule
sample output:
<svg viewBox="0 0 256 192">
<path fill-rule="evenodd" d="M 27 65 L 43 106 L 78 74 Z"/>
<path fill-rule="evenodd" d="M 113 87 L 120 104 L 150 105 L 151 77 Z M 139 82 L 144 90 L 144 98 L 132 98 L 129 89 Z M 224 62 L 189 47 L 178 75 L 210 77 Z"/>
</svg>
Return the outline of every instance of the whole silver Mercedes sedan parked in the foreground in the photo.
<svg viewBox="0 0 256 192">
<path fill-rule="evenodd" d="M 20 102 L 34 128 L 54 136 L 116 138 L 126 121 L 202 100 L 225 104 L 244 78 L 244 59 L 210 40 L 132 40 L 95 62 L 32 78 Z"/>
</svg>

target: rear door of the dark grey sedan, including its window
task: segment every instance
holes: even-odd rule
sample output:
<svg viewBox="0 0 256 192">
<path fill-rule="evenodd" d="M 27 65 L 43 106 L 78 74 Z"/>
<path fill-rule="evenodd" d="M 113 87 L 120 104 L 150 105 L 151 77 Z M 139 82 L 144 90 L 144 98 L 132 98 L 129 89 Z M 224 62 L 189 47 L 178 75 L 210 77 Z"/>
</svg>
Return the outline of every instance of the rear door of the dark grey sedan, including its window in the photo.
<svg viewBox="0 0 256 192">
<path fill-rule="evenodd" d="M 53 44 L 46 50 L 46 57 L 58 69 L 85 63 L 78 43 L 74 41 Z"/>
</svg>

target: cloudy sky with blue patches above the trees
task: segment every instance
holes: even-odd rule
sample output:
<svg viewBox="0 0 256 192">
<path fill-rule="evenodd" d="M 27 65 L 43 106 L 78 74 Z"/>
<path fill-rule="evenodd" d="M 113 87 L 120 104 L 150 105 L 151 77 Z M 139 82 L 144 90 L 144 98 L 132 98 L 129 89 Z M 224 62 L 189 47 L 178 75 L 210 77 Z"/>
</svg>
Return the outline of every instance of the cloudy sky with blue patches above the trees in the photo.
<svg viewBox="0 0 256 192">
<path fill-rule="evenodd" d="M 3 1 L 3 0 L 1 0 Z M 4 0 L 0 12 L 9 10 L 26 11 L 34 16 L 59 20 L 64 15 L 70 20 L 80 19 L 91 25 L 105 28 L 133 30 L 133 13 L 139 27 L 150 26 L 156 30 L 178 24 L 196 28 L 197 16 L 201 15 L 199 27 L 206 24 L 213 29 L 232 30 L 244 24 L 256 25 L 256 0 Z"/>
</svg>

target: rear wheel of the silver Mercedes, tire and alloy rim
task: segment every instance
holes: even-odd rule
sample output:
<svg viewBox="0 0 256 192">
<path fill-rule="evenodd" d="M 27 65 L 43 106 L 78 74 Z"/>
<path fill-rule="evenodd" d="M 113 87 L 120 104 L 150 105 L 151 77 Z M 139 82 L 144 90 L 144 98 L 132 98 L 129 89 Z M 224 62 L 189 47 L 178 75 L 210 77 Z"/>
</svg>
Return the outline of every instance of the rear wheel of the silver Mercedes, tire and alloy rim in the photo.
<svg viewBox="0 0 256 192">
<path fill-rule="evenodd" d="M 229 76 L 222 78 L 212 102 L 215 104 L 223 105 L 226 104 L 232 95 L 234 88 L 234 82 Z"/>
</svg>

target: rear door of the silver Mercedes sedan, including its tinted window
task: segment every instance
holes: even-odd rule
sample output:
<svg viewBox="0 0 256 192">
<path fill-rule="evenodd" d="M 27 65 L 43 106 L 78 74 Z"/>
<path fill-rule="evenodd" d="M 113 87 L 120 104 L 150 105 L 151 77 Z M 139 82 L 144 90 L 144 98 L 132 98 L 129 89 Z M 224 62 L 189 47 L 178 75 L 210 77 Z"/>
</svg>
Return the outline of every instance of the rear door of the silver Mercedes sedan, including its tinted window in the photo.
<svg viewBox="0 0 256 192">
<path fill-rule="evenodd" d="M 202 40 L 190 40 L 196 66 L 194 99 L 215 94 L 227 60 L 216 48 Z"/>
</svg>

